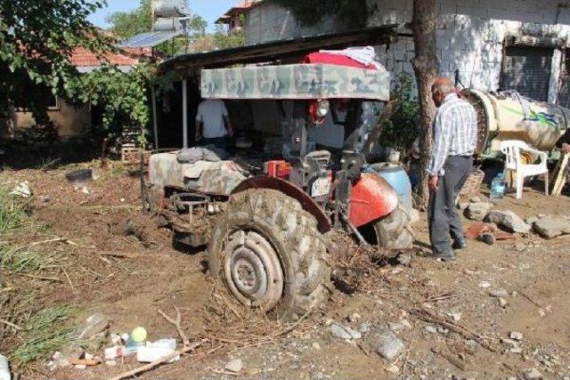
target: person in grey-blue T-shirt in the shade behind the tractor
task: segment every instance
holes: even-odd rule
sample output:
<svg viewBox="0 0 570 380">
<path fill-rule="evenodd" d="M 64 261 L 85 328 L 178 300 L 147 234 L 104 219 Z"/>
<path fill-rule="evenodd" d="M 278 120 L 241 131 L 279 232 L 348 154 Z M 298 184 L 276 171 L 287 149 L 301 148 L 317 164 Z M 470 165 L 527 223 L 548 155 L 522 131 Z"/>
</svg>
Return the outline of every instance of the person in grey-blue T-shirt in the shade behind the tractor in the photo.
<svg viewBox="0 0 570 380">
<path fill-rule="evenodd" d="M 202 126 L 202 130 L 200 130 Z M 228 110 L 224 101 L 208 99 L 199 103 L 196 114 L 195 139 L 201 145 L 215 145 L 218 149 L 225 149 L 226 136 L 232 137 L 233 129 Z"/>
</svg>

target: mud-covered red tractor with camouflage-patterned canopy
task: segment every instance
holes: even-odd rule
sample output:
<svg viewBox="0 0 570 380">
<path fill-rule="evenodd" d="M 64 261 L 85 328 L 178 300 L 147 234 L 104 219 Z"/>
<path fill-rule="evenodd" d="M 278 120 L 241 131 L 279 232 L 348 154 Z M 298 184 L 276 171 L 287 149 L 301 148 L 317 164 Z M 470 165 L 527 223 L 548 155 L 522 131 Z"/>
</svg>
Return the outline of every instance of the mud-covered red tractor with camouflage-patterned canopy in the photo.
<svg viewBox="0 0 570 380">
<path fill-rule="evenodd" d="M 201 75 L 204 98 L 279 102 L 288 159 L 269 157 L 265 173 L 241 179 L 229 179 L 233 162 L 222 161 L 212 165 L 226 169 L 202 171 L 197 181 L 193 167 L 184 168 L 175 153 L 153 155 L 143 198 L 160 199 L 177 242 L 208 246 L 210 274 L 239 303 L 281 320 L 322 303 L 334 265 L 332 229 L 347 230 L 364 244 L 411 247 L 407 210 L 379 174 L 365 170 L 362 153 L 371 132 L 362 105 L 387 101 L 387 72 L 305 64 Z M 344 120 L 338 109 L 346 111 Z M 309 151 L 308 131 L 329 113 L 344 125 L 344 148 L 337 155 Z"/>
</svg>

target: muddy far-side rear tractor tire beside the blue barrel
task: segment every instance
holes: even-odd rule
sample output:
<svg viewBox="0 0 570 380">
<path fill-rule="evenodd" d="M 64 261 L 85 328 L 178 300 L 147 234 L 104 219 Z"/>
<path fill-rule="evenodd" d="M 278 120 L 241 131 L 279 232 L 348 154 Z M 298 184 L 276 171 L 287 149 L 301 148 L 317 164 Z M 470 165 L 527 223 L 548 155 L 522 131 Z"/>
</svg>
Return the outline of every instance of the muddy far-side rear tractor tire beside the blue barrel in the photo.
<svg viewBox="0 0 570 380">
<path fill-rule="evenodd" d="M 410 217 L 402 205 L 374 223 L 377 244 L 387 249 L 407 249 L 413 244 Z"/>
</svg>

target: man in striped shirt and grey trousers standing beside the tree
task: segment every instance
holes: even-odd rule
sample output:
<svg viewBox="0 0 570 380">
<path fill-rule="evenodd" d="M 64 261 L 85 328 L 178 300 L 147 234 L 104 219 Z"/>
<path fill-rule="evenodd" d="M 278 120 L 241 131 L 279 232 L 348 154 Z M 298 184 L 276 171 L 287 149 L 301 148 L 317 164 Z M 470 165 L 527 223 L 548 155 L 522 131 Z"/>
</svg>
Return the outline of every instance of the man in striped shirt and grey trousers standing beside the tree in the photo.
<svg viewBox="0 0 570 380">
<path fill-rule="evenodd" d="M 455 260 L 453 249 L 467 247 L 455 198 L 473 168 L 477 118 L 475 109 L 459 98 L 449 79 L 436 80 L 432 86 L 432 99 L 439 109 L 428 166 L 429 239 L 434 258 L 452 261 Z"/>
</svg>

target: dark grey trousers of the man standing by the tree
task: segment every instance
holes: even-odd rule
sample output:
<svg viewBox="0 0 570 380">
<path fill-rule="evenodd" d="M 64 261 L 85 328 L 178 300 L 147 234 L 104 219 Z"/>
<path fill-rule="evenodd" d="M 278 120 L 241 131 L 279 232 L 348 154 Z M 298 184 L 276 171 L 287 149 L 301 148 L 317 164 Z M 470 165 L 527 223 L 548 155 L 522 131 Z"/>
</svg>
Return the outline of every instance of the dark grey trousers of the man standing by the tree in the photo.
<svg viewBox="0 0 570 380">
<path fill-rule="evenodd" d="M 471 156 L 450 156 L 445 160 L 444 175 L 439 177 L 439 189 L 429 194 L 429 239 L 434 252 L 452 251 L 452 239 L 463 238 L 460 215 L 455 198 L 473 169 Z"/>
</svg>

